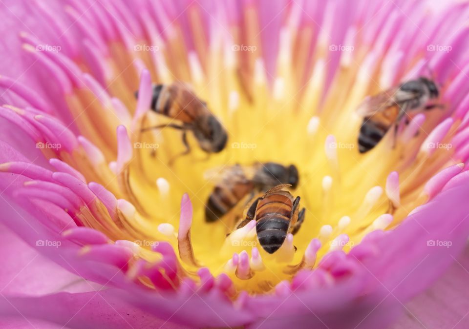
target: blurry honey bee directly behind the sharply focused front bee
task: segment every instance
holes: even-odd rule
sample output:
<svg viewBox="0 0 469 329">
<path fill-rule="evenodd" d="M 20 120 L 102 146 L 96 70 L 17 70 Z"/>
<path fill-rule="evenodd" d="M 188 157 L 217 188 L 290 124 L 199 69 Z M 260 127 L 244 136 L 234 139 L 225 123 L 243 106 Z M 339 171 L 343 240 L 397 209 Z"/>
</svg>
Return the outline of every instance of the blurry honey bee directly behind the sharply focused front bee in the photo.
<svg viewBox="0 0 469 329">
<path fill-rule="evenodd" d="M 244 198 L 250 200 L 256 193 L 264 193 L 278 184 L 290 184 L 293 188 L 298 185 L 298 169 L 295 165 L 287 167 L 274 162 L 251 166 L 233 165 L 223 170 L 220 176 L 205 206 L 206 222 L 217 221 L 242 203 Z"/>
</svg>

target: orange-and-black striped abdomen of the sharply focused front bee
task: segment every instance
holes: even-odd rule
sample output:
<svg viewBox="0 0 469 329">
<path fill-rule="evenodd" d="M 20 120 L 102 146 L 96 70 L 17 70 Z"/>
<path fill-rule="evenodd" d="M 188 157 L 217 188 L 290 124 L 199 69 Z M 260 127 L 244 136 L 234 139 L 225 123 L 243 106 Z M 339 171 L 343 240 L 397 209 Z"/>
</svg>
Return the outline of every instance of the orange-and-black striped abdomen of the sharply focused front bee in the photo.
<svg viewBox="0 0 469 329">
<path fill-rule="evenodd" d="M 291 224 L 292 206 L 291 198 L 283 193 L 268 195 L 257 204 L 257 239 L 270 254 L 285 241 Z"/>
</svg>

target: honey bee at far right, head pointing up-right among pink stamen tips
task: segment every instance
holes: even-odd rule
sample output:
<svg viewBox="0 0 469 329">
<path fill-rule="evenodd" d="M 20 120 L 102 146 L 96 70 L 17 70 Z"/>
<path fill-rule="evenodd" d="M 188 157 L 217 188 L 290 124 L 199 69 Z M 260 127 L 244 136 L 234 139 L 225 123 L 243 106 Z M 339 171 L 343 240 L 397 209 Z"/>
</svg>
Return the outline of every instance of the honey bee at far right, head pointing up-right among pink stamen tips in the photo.
<svg viewBox="0 0 469 329">
<path fill-rule="evenodd" d="M 358 137 L 360 153 L 375 147 L 392 126 L 395 143 L 403 118 L 408 123 L 410 113 L 442 107 L 441 104 L 431 103 L 438 95 L 436 83 L 421 77 L 367 98 L 357 109 L 357 113 L 363 117 Z"/>
</svg>

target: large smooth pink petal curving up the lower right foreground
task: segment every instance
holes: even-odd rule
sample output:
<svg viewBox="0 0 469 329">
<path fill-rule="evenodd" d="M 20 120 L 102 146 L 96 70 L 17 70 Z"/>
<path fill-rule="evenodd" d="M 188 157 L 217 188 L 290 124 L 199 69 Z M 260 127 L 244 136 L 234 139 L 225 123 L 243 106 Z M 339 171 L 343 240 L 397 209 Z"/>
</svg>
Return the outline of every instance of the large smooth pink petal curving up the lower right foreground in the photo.
<svg viewBox="0 0 469 329">
<path fill-rule="evenodd" d="M 318 328 L 377 328 L 395 320 L 404 303 L 428 287 L 466 246 L 469 216 L 461 205 L 469 193 L 469 179 L 464 182 L 438 195 L 380 239 L 352 249 L 347 257 L 359 267 L 343 284 L 298 289 L 277 300 L 253 298 L 246 310 L 256 309 L 263 318 L 253 328 L 282 328 L 282 321 L 291 321 L 292 313 L 298 328 L 310 328 L 311 323 Z M 361 256 L 364 248 L 372 251 L 365 258 Z M 304 280 L 314 281 L 313 276 Z"/>
</svg>

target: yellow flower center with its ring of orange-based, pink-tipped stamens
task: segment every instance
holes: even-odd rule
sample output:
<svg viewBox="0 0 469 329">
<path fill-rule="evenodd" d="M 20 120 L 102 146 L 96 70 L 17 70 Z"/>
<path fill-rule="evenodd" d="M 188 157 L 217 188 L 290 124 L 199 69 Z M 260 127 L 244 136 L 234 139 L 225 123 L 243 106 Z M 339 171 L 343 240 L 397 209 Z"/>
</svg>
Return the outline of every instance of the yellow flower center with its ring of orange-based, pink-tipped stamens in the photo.
<svg viewBox="0 0 469 329">
<path fill-rule="evenodd" d="M 200 17 L 192 14 L 197 26 Z M 249 9 L 245 14 L 247 35 L 258 35 Z M 367 234 L 399 225 L 431 197 L 426 183 L 435 172 L 457 164 L 450 147 L 452 119 L 437 126 L 444 110 L 417 115 L 399 127 L 396 140 L 388 133 L 368 153 L 358 151 L 362 118 L 357 106 L 367 95 L 405 79 L 412 68 L 414 75 L 423 74 L 421 58 L 397 70 L 363 45 L 353 55 L 341 51 L 334 67 L 326 41 L 319 38 L 314 57 L 307 58 L 304 42 L 292 41 L 310 40 L 311 30 L 285 28 L 272 75 L 257 38 L 241 45 L 214 32 L 209 45 L 196 34 L 195 50 L 187 51 L 180 29 L 171 27 L 162 40 L 151 20 L 145 24 L 145 38 L 133 40 L 120 31 L 126 41 L 88 44 L 88 58 L 74 62 L 55 52 L 37 52 L 37 41 L 23 35 L 24 48 L 64 82 L 72 121 L 85 137 L 79 150 L 63 152 L 62 159 L 119 199 L 115 214 L 101 205 L 99 223 L 85 212 L 78 217 L 113 241 L 136 243 L 142 258 L 154 257 L 152 247 L 166 241 L 179 251 L 181 275 L 193 277 L 199 267 L 207 267 L 213 275 L 228 274 L 238 291 L 269 291 L 301 268 L 317 267 L 328 252 L 348 251 Z M 79 67 L 89 72 L 83 79 L 75 75 Z M 168 125 L 173 119 L 149 111 L 149 88 L 175 81 L 191 84 L 222 122 L 229 136 L 223 151 L 207 154 L 189 132 L 191 152 L 171 162 L 186 147 L 181 131 Z M 119 125 L 127 129 L 118 128 L 116 138 Z M 168 126 L 142 131 L 156 125 Z M 84 158 L 92 159 L 91 165 Z M 254 222 L 234 230 L 227 218 L 204 220 L 207 199 L 224 167 L 266 162 L 298 168 L 298 187 L 291 192 L 306 208 L 298 233 L 287 235 L 273 254 L 259 245 Z M 192 207 L 192 217 L 181 214 L 184 193 L 192 206 L 183 199 L 182 212 L 187 208 L 189 214 Z"/>
</svg>

